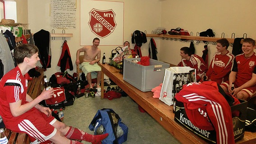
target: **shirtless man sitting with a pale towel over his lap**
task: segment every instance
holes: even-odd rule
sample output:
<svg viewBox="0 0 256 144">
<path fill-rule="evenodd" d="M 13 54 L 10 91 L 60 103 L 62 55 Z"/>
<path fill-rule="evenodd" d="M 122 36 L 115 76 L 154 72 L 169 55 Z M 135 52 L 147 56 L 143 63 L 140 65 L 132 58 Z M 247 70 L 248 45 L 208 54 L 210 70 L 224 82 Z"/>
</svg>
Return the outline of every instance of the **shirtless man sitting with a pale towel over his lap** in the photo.
<svg viewBox="0 0 256 144">
<path fill-rule="evenodd" d="M 86 79 L 92 88 L 91 79 L 92 77 L 97 77 L 96 87 L 100 87 L 101 81 L 101 67 L 98 66 L 98 62 L 101 60 L 101 49 L 98 48 L 100 45 L 100 39 L 94 38 L 92 41 L 92 45 L 84 46 L 77 51 L 77 60 L 76 64 L 79 64 L 79 55 L 81 52 L 84 52 L 83 62 L 80 64 L 80 67 L 84 74 L 86 75 Z M 96 59 L 97 57 L 97 59 Z M 96 72 L 96 73 L 95 73 Z M 97 76 L 96 76 L 97 75 Z"/>
</svg>

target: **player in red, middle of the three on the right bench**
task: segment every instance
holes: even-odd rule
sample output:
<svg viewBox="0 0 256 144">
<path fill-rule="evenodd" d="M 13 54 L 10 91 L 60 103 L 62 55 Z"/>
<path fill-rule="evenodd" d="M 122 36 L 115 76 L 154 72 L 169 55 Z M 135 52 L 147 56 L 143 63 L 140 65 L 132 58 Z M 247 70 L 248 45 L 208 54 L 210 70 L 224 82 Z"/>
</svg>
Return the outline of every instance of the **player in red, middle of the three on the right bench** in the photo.
<svg viewBox="0 0 256 144">
<path fill-rule="evenodd" d="M 229 41 L 227 39 L 219 39 L 216 42 L 217 53 L 214 54 L 206 72 L 206 80 L 215 81 L 220 85 L 222 82 L 229 80 L 229 72 L 235 56 L 228 50 Z"/>
</svg>

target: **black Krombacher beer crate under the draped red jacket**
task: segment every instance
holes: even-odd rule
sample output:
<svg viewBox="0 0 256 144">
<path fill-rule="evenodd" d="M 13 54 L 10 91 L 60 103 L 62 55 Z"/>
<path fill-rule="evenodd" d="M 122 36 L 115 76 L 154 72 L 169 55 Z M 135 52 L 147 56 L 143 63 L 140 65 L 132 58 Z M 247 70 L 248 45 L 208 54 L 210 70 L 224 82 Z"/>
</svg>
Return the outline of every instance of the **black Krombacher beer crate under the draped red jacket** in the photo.
<svg viewBox="0 0 256 144">
<path fill-rule="evenodd" d="M 242 139 L 245 131 L 247 101 L 240 100 L 240 102 L 240 104 L 231 106 L 231 112 L 240 112 L 238 117 L 232 118 L 235 141 Z M 187 118 L 187 114 L 182 102 L 176 101 L 176 112 L 174 115 L 174 120 L 182 126 L 186 127 L 188 130 L 191 130 L 202 139 L 205 139 L 207 142 L 211 144 L 216 144 L 216 131 L 201 130 L 198 127 L 194 126 L 192 122 L 189 121 L 189 119 Z"/>
</svg>

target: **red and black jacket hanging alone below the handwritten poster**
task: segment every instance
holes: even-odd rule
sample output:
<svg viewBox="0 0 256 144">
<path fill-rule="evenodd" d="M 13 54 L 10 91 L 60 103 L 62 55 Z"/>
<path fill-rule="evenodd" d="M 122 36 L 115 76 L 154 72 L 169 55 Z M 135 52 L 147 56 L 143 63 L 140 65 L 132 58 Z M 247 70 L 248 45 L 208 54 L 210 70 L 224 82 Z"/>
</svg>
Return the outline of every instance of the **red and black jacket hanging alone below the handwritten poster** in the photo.
<svg viewBox="0 0 256 144">
<path fill-rule="evenodd" d="M 60 67 L 61 72 L 65 72 L 65 70 L 67 69 L 73 71 L 73 63 L 69 52 L 69 45 L 67 44 L 67 40 L 65 40 L 62 45 L 62 51 L 59 58 L 58 66 Z"/>
</svg>

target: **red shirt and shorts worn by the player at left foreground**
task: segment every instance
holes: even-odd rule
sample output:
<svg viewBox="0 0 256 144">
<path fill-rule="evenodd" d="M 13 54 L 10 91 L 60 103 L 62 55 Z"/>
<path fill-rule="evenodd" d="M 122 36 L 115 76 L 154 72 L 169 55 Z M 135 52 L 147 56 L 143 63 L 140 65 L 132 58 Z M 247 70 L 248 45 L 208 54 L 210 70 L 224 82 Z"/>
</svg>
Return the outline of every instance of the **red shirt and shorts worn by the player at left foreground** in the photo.
<svg viewBox="0 0 256 144">
<path fill-rule="evenodd" d="M 6 128 L 15 132 L 25 132 L 29 135 L 30 141 L 44 142 L 50 139 L 56 133 L 56 129 L 50 125 L 56 119 L 33 107 L 18 117 L 11 113 L 9 103 L 18 102 L 28 103 L 27 95 L 27 77 L 22 75 L 19 67 L 7 72 L 0 80 L 0 115 L 3 118 Z"/>
</svg>

